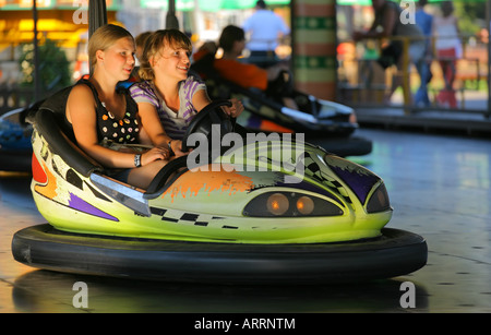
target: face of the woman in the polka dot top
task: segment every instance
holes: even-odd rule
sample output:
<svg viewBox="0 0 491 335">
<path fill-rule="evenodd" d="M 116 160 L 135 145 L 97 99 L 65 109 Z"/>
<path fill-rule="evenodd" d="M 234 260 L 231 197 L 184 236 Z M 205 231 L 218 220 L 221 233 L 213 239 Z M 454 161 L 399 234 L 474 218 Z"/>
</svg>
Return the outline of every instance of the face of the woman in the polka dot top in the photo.
<svg viewBox="0 0 491 335">
<path fill-rule="evenodd" d="M 106 50 L 99 50 L 98 60 L 101 60 L 104 68 L 113 74 L 119 81 L 130 77 L 134 68 L 134 41 L 130 37 L 118 39 Z"/>
</svg>

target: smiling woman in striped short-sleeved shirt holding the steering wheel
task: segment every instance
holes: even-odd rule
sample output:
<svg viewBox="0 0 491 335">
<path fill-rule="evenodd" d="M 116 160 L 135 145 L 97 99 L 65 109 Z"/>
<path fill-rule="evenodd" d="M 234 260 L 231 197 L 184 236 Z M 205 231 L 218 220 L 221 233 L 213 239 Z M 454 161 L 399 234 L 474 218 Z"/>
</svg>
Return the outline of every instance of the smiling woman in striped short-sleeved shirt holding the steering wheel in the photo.
<svg viewBox="0 0 491 335">
<path fill-rule="evenodd" d="M 159 133 L 160 143 L 167 142 L 176 156 L 181 152 L 181 140 L 193 117 L 212 103 L 206 86 L 188 76 L 191 40 L 178 29 L 154 32 L 145 43 L 140 76 L 143 82 L 130 87 L 133 99 L 139 105 L 143 128 L 149 134 Z M 231 99 L 231 107 L 224 110 L 231 117 L 238 117 L 243 106 L 238 99 Z"/>
</svg>

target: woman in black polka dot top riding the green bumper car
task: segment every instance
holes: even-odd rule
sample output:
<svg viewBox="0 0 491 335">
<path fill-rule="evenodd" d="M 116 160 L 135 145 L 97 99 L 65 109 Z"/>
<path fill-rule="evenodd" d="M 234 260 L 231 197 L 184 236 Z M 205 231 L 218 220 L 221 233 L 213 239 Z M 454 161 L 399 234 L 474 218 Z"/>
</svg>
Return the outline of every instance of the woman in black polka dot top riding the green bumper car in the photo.
<svg viewBox="0 0 491 335">
<path fill-rule="evenodd" d="M 111 24 L 99 27 L 88 41 L 93 71 L 71 89 L 65 116 L 77 145 L 107 168 L 109 176 L 146 189 L 168 161 L 169 149 L 157 146 L 137 153 L 110 148 L 140 143 L 137 106 L 127 91 L 116 89 L 118 82 L 129 79 L 134 52 L 134 39 L 127 29 Z"/>
</svg>

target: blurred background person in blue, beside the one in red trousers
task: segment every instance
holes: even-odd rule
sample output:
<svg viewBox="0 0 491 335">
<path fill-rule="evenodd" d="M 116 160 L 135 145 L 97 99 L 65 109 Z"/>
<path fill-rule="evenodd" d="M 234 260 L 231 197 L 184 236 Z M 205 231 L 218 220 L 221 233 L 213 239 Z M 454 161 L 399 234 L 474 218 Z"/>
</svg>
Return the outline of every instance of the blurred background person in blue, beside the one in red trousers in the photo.
<svg viewBox="0 0 491 335">
<path fill-rule="evenodd" d="M 432 61 L 432 47 L 431 47 L 431 34 L 433 32 L 433 15 L 424 12 L 424 5 L 428 4 L 428 0 L 419 0 L 416 8 L 416 24 L 421 28 L 426 38 L 426 51 L 424 59 L 421 63 L 421 85 L 415 95 L 416 106 L 430 106 L 430 98 L 428 97 L 428 83 L 431 81 L 431 61 Z"/>
</svg>

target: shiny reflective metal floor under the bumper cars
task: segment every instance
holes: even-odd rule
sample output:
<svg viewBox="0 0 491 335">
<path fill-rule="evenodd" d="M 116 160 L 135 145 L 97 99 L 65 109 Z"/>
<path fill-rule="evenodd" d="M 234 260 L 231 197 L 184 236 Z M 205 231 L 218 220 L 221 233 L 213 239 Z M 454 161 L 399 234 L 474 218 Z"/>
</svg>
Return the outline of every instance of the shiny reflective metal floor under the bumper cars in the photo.
<svg viewBox="0 0 491 335">
<path fill-rule="evenodd" d="M 357 285 L 236 287 L 38 271 L 10 252 L 16 230 L 44 223 L 29 178 L 0 172 L 0 312 L 491 312 L 490 140 L 371 129 L 358 135 L 374 143 L 372 154 L 354 160 L 385 180 L 395 210 L 388 227 L 428 241 L 428 265 L 414 274 Z M 87 308 L 73 306 L 76 282 L 87 285 Z M 414 285 L 414 307 L 402 304 L 410 291 L 405 282 Z"/>
</svg>

